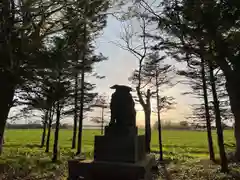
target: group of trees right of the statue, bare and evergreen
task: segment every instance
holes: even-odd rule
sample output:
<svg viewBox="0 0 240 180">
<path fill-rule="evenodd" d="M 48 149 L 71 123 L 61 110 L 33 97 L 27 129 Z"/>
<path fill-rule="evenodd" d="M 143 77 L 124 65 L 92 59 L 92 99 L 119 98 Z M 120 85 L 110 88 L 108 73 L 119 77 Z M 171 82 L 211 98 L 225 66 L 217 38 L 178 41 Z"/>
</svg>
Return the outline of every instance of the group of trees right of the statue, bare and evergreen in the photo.
<svg viewBox="0 0 240 180">
<path fill-rule="evenodd" d="M 193 106 L 193 119 L 204 119 L 206 123 L 211 160 L 215 160 L 211 135 L 211 123 L 215 122 L 221 167 L 223 172 L 227 172 L 221 125 L 223 120 L 235 122 L 236 159 L 240 159 L 239 2 L 237 0 L 163 0 L 161 2 L 138 0 L 127 4 L 131 12 L 125 13 L 121 20 L 125 23 L 134 20 L 138 22 L 139 28 L 135 31 L 132 28 L 135 25 L 124 28 L 122 39 L 125 45 L 121 47 L 130 51 L 139 62 L 132 79 L 136 83 L 138 99 L 145 112 L 147 149 L 150 150 L 151 140 L 150 97 L 156 93 L 157 109 L 160 112 L 164 106 L 162 99 L 159 98 L 158 88 L 169 84 L 167 74 L 171 74 L 168 72 L 171 66 L 160 65 L 164 56 L 161 57 L 159 54 L 165 53 L 187 65 L 187 69 L 177 70 L 176 74 L 187 78 L 187 84 L 190 84 L 193 90 L 190 93 L 203 100 L 202 104 Z M 153 76 L 151 69 L 146 68 L 152 62 L 154 65 L 151 67 L 154 67 L 155 72 Z M 152 80 L 159 79 L 156 73 L 158 66 L 162 68 L 161 77 L 167 79 L 155 83 L 156 89 L 153 90 L 150 84 Z M 167 102 L 169 104 L 169 101 Z M 161 151 L 160 113 L 158 113 L 158 121 Z"/>
</svg>

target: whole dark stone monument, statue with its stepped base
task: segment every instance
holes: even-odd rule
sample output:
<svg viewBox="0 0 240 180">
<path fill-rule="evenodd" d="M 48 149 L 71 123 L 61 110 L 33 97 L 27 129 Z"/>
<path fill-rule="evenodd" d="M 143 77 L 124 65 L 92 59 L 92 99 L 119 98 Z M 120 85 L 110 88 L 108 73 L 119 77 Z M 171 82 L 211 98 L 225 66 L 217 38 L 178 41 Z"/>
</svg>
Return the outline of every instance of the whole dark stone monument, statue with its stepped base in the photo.
<svg viewBox="0 0 240 180">
<path fill-rule="evenodd" d="M 114 85 L 111 120 L 104 136 L 95 136 L 94 160 L 69 161 L 69 179 L 149 180 L 155 159 L 145 152 L 144 135 L 138 135 L 131 88 Z"/>
</svg>

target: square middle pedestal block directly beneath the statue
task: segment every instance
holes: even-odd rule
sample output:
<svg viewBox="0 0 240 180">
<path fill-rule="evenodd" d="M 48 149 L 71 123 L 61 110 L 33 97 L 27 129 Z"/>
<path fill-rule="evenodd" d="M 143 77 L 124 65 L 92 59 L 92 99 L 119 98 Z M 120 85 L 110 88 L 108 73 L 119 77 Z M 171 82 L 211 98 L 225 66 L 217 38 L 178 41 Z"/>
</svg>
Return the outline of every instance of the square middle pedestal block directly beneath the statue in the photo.
<svg viewBox="0 0 240 180">
<path fill-rule="evenodd" d="M 95 136 L 94 160 L 135 163 L 145 158 L 145 136 Z"/>
</svg>

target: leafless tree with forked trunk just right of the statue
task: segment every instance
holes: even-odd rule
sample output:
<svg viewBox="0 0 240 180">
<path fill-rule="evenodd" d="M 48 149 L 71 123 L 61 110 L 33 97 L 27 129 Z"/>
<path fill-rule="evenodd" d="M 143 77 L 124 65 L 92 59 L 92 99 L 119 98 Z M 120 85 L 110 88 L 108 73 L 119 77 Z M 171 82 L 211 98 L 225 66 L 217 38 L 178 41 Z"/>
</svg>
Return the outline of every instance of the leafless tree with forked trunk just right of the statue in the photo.
<svg viewBox="0 0 240 180">
<path fill-rule="evenodd" d="M 143 16 L 136 14 L 134 18 L 138 23 L 136 32 L 133 29 L 133 21 L 129 20 L 129 24 L 123 26 L 124 32 L 121 35 L 121 40 L 124 45 L 118 43 L 117 45 L 124 50 L 129 51 L 138 60 L 138 69 L 134 71 L 129 80 L 135 85 L 138 101 L 141 104 L 145 115 L 145 144 L 146 151 L 150 152 L 151 142 L 151 96 L 150 89 L 147 88 L 147 83 L 143 81 L 142 68 L 145 58 L 148 53 L 147 34 L 147 21 Z M 137 40 L 137 41 L 135 41 Z M 138 43 L 136 43 L 138 42 Z M 116 44 L 116 43 L 115 43 Z"/>
</svg>

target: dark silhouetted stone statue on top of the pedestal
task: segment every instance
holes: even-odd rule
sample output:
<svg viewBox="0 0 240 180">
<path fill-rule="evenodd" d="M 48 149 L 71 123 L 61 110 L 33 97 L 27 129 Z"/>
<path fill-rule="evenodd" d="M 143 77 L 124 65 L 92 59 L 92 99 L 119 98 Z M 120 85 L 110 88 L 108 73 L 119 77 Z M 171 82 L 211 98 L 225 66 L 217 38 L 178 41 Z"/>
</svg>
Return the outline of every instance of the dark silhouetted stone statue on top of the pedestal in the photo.
<svg viewBox="0 0 240 180">
<path fill-rule="evenodd" d="M 111 89 L 116 91 L 112 94 L 110 103 L 111 121 L 110 126 L 115 124 L 117 127 L 135 127 L 136 111 L 135 103 L 128 86 L 114 85 Z"/>
</svg>

